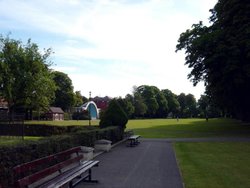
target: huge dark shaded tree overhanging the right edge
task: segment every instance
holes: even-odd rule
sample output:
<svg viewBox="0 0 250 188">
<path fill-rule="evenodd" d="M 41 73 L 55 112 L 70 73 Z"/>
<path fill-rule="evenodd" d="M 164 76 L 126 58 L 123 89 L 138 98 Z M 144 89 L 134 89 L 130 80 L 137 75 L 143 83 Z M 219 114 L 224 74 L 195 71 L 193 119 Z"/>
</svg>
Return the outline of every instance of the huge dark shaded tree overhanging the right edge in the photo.
<svg viewBox="0 0 250 188">
<path fill-rule="evenodd" d="M 186 51 L 188 78 L 203 80 L 209 96 L 241 120 L 250 120 L 250 1 L 219 0 L 211 26 L 202 22 L 180 35 L 177 51 Z"/>
</svg>

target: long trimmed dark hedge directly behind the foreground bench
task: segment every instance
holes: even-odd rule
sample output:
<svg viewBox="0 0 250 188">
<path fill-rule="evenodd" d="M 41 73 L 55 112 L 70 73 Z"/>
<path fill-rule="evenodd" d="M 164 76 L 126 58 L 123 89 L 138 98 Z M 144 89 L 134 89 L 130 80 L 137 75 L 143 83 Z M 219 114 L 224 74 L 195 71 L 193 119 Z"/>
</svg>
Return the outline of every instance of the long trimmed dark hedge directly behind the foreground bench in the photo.
<svg viewBox="0 0 250 188">
<path fill-rule="evenodd" d="M 123 138 L 119 127 L 106 129 L 78 130 L 75 133 L 51 136 L 38 141 L 29 141 L 13 147 L 0 147 L 0 184 L 11 187 L 14 182 L 12 168 L 18 164 L 35 160 L 75 146 L 93 146 L 98 139 L 115 143 Z"/>
</svg>

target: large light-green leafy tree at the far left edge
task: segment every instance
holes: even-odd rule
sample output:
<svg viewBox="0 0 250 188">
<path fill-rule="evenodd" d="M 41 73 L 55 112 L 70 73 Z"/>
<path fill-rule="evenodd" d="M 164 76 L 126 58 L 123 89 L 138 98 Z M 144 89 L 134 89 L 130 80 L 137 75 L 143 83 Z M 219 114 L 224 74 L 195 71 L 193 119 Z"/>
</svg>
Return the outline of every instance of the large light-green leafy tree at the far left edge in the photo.
<svg viewBox="0 0 250 188">
<path fill-rule="evenodd" d="M 51 49 L 43 54 L 29 39 L 26 44 L 0 35 L 0 96 L 12 113 L 17 108 L 40 109 L 54 98 L 55 84 L 49 66 Z"/>
</svg>

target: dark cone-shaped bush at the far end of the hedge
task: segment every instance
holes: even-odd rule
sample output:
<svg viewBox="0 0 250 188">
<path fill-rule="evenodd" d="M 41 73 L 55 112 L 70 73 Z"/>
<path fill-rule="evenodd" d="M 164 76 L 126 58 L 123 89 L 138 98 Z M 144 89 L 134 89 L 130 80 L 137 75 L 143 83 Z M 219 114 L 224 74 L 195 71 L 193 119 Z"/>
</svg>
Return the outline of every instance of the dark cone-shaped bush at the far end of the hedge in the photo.
<svg viewBox="0 0 250 188">
<path fill-rule="evenodd" d="M 109 102 L 108 108 L 103 112 L 100 120 L 100 127 L 119 126 L 122 130 L 126 128 L 128 117 L 119 105 L 117 99 Z"/>
</svg>

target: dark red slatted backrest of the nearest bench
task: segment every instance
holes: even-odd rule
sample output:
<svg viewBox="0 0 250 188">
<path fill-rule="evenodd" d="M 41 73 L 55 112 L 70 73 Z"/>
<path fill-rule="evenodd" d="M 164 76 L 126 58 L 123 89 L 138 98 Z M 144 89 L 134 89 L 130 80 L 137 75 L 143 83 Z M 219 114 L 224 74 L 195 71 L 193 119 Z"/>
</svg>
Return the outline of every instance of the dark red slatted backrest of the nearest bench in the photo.
<svg viewBox="0 0 250 188">
<path fill-rule="evenodd" d="M 66 151 L 49 155 L 28 163 L 14 167 L 14 174 L 17 179 L 17 186 L 26 187 L 38 180 L 41 180 L 73 163 L 79 162 L 83 156 L 79 155 L 81 147 L 74 147 Z M 72 154 L 76 155 L 72 155 Z"/>
</svg>

